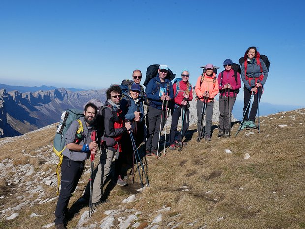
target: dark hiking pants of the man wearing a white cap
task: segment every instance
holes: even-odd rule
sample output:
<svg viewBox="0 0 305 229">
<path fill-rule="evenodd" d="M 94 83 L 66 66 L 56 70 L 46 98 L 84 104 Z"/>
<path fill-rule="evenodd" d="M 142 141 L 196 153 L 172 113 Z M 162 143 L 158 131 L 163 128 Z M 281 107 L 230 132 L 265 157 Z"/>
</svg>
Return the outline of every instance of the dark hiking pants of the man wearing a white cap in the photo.
<svg viewBox="0 0 305 229">
<path fill-rule="evenodd" d="M 166 101 L 164 101 L 164 103 L 166 103 Z M 160 129 L 161 116 L 163 120 Z M 165 111 L 163 111 L 162 115 L 161 110 L 149 106 L 147 111 L 147 118 L 149 137 L 146 142 L 146 149 L 155 150 L 158 147 L 159 133 L 163 130 L 165 124 Z"/>
</svg>

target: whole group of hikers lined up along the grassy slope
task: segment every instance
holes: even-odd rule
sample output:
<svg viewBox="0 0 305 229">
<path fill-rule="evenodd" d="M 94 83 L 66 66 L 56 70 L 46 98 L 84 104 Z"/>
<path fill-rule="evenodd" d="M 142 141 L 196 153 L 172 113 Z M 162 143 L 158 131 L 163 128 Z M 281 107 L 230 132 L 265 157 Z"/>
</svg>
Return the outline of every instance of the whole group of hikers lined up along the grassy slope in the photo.
<svg viewBox="0 0 305 229">
<path fill-rule="evenodd" d="M 167 76 L 167 65 L 159 65 L 157 74 L 146 85 L 140 86 L 142 73 L 135 70 L 132 73 L 133 83 L 127 93 L 122 93 L 119 85 L 112 85 L 106 91 L 107 101 L 102 107 L 94 103 L 86 104 L 82 122 L 84 131 L 79 142 L 76 135 L 79 120 L 72 122 L 65 135 L 66 148 L 63 150 L 61 172 L 61 191 L 56 206 L 55 225 L 57 229 L 65 229 L 65 214 L 72 193 L 84 169 L 84 162 L 95 155 L 100 149 L 100 161 L 94 170 L 92 185 L 88 184 L 83 199 L 97 205 L 101 202 L 104 184 L 110 179 L 114 184 L 127 185 L 126 164 L 134 164 L 134 154 L 138 146 L 144 142 L 145 155 L 160 155 L 160 136 L 171 112 L 171 127 L 168 136 L 170 150 L 181 149 L 187 143 L 183 141 L 189 127 L 189 102 L 193 98 L 193 89 L 197 97 L 197 132 L 198 141 L 204 138 L 211 141 L 212 115 L 214 97 L 219 95 L 219 133 L 218 137 L 231 135 L 231 113 L 236 95 L 244 83 L 244 115 L 240 130 L 257 128 L 255 116 L 263 85 L 268 76 L 265 63 L 259 58 L 256 47 L 247 49 L 244 62 L 241 64 L 241 74 L 233 69 L 231 59 L 223 62 L 224 70 L 216 76 L 213 64 L 203 67 L 203 73 L 198 77 L 195 87 L 189 82 L 190 71 L 184 68 L 181 78 L 175 79 L 174 84 Z M 254 102 L 249 113 L 250 100 Z M 144 103 L 147 113 L 144 114 Z M 176 134 L 179 119 L 182 120 L 181 131 Z M 205 119 L 205 125 L 204 125 Z M 92 132 L 96 130 L 97 137 Z M 164 140 L 164 152 L 165 152 Z M 137 158 L 137 157 L 136 157 Z M 115 161 L 115 163 L 113 163 Z M 113 166 L 114 165 L 114 166 Z M 91 190 L 92 189 L 92 190 Z M 90 193 L 91 192 L 91 193 Z"/>
</svg>

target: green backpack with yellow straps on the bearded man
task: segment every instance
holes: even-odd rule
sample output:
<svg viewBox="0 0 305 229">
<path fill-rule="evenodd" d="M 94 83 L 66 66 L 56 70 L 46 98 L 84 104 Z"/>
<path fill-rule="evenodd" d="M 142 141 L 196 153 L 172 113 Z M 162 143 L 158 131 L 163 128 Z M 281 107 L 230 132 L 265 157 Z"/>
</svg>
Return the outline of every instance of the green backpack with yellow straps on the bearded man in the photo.
<svg viewBox="0 0 305 229">
<path fill-rule="evenodd" d="M 56 134 L 55 134 L 54 141 L 53 141 L 53 151 L 60 158 L 59 163 L 56 165 L 57 195 L 59 194 L 59 186 L 60 186 L 59 168 L 61 167 L 62 159 L 63 159 L 62 151 L 66 147 L 65 134 L 66 134 L 67 130 L 69 129 L 71 123 L 74 120 L 77 120 L 79 123 L 79 128 L 76 132 L 76 135 L 83 133 L 83 131 L 84 131 L 83 124 L 79 120 L 79 118 L 81 118 L 81 117 L 84 117 L 83 111 L 77 110 L 77 109 L 67 109 L 66 111 L 62 112 L 60 123 L 56 129 Z"/>
</svg>

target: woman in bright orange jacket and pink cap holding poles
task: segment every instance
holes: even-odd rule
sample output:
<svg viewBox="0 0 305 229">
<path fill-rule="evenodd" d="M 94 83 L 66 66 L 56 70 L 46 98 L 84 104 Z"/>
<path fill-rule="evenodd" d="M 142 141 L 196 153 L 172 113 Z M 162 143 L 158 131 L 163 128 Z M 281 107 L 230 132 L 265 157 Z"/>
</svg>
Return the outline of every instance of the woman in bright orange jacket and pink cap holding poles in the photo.
<svg viewBox="0 0 305 229">
<path fill-rule="evenodd" d="M 212 64 L 207 64 L 205 67 L 205 72 L 198 77 L 195 92 L 197 95 L 197 131 L 200 134 L 201 118 L 202 118 L 202 107 L 204 102 L 206 105 L 206 125 L 205 131 L 202 132 L 200 138 L 203 137 L 206 141 L 211 141 L 211 127 L 212 127 L 212 115 L 214 107 L 214 97 L 219 92 L 218 81 L 216 80 L 216 74 L 214 71 L 214 66 Z"/>
</svg>

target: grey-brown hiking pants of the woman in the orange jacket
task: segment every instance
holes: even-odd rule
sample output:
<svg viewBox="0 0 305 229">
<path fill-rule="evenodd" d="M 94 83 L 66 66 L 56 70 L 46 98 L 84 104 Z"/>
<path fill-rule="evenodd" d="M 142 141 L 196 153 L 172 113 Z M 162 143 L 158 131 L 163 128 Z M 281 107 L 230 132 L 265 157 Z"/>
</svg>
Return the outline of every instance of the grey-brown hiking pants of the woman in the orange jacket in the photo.
<svg viewBox="0 0 305 229">
<path fill-rule="evenodd" d="M 201 127 L 202 107 L 203 107 L 203 101 L 198 99 L 197 104 L 196 104 L 198 134 L 200 132 L 200 127 Z M 213 108 L 214 108 L 214 101 L 208 102 L 206 105 L 206 110 L 205 110 L 206 125 L 205 125 L 204 131 L 203 131 L 203 132 L 205 132 L 205 134 L 204 134 L 205 136 L 211 136 Z M 201 136 L 203 136 L 203 132 L 201 133 Z"/>
</svg>

